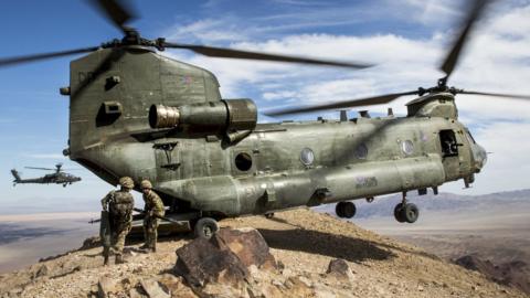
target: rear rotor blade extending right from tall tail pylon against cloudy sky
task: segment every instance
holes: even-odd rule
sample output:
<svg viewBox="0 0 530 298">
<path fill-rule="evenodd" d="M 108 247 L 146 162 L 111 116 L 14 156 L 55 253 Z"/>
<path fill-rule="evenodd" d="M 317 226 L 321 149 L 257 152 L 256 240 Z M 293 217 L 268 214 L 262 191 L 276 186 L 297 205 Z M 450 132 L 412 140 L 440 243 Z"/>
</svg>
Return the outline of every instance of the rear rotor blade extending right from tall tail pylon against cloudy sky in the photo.
<svg viewBox="0 0 530 298">
<path fill-rule="evenodd" d="M 317 60 L 317 58 L 309 58 L 309 57 L 268 54 L 268 53 L 261 53 L 261 52 L 231 50 L 231 49 L 193 45 L 193 44 L 163 42 L 162 45 L 165 47 L 171 47 L 171 49 L 186 49 L 186 50 L 193 51 L 198 54 L 211 56 L 211 57 L 276 61 L 276 62 L 315 64 L 315 65 L 329 65 L 329 66 L 350 67 L 350 68 L 367 68 L 367 67 L 373 66 L 371 64 L 365 64 L 365 63 L 327 61 L 327 60 Z"/>
</svg>

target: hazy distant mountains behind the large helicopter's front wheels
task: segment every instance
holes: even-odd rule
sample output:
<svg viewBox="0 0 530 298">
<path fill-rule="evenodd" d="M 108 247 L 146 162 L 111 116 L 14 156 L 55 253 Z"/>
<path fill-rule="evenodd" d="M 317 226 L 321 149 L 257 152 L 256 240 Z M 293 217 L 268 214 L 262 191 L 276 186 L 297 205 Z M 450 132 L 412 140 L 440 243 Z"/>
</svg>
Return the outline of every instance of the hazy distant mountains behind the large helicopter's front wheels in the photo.
<svg viewBox="0 0 530 298">
<path fill-rule="evenodd" d="M 431 191 L 425 195 L 417 195 L 410 192 L 407 200 L 416 204 L 421 211 L 455 211 L 463 210 L 488 210 L 498 206 L 529 207 L 530 209 L 530 189 L 497 192 L 483 195 L 460 195 L 454 193 L 438 193 L 434 195 Z M 394 206 L 401 202 L 401 194 L 392 194 L 375 198 L 372 203 L 365 200 L 352 201 L 357 206 L 357 219 L 367 219 L 374 216 L 388 216 L 392 214 Z M 335 214 L 335 204 L 321 205 L 315 207 L 318 212 Z"/>
</svg>

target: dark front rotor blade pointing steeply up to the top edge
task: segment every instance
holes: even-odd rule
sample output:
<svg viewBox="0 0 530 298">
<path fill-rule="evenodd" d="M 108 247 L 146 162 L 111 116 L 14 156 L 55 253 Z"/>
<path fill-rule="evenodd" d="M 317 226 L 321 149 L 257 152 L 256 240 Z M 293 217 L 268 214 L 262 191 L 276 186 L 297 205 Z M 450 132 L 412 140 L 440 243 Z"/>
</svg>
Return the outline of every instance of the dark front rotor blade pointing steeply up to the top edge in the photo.
<svg viewBox="0 0 530 298">
<path fill-rule="evenodd" d="M 444 60 L 444 63 L 441 65 L 441 70 L 446 74 L 445 78 L 451 76 L 455 70 L 456 63 L 460 55 L 462 49 L 464 47 L 466 41 L 468 40 L 469 32 L 471 31 L 474 24 L 479 19 L 480 14 L 484 12 L 484 8 L 488 0 L 475 0 L 471 9 L 467 14 L 467 19 L 464 21 L 462 26 L 462 32 L 458 38 L 455 40 L 455 43 L 451 47 L 447 57 Z"/>
</svg>

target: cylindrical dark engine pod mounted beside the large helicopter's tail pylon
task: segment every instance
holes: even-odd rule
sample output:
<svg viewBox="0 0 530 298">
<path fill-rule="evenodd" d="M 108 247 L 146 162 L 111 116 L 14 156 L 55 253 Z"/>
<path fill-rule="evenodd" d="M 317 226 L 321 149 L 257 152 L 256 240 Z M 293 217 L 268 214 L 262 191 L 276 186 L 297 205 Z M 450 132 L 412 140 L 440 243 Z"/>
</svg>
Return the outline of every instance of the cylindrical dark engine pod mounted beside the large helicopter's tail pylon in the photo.
<svg viewBox="0 0 530 298">
<path fill-rule="evenodd" d="M 222 99 L 180 107 L 152 105 L 149 125 L 152 128 L 201 127 L 213 130 L 253 130 L 257 108 L 251 99 Z"/>
</svg>

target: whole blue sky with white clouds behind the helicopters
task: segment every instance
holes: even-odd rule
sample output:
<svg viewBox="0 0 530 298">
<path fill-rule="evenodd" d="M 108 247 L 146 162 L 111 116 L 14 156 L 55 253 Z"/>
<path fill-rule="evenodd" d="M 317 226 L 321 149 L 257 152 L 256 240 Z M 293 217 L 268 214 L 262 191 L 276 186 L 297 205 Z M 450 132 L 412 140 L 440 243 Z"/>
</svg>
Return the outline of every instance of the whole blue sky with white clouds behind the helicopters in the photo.
<svg viewBox="0 0 530 298">
<path fill-rule="evenodd" d="M 463 1 L 130 1 L 141 18 L 132 26 L 147 38 L 167 36 L 257 51 L 303 54 L 336 60 L 368 61 L 379 66 L 361 72 L 214 60 L 182 51 L 165 54 L 212 70 L 224 97 L 251 97 L 261 108 L 311 104 L 386 92 L 428 87 L 441 77 L 437 64 L 451 43 Z M 97 45 L 119 32 L 86 1 L 8 1 L 0 18 L 0 56 Z M 451 83 L 491 92 L 530 94 L 530 2 L 492 6 L 466 49 Z M 52 167 L 67 140 L 68 62 L 56 58 L 0 68 L 0 185 L 3 209 L 25 211 L 97 210 L 109 189 L 86 170 L 82 183 L 12 188 L 11 168 Z M 392 103 L 404 114 L 403 104 Z M 471 190 L 460 183 L 442 190 L 486 193 L 528 188 L 530 174 L 530 103 L 459 97 L 462 120 L 477 141 L 494 151 Z M 375 113 L 385 106 L 370 108 Z M 354 111 L 351 111 L 354 115 Z M 317 115 L 298 118 L 315 118 Z M 335 114 L 325 114 L 337 117 Z M 274 119 L 261 116 L 261 120 Z M 42 174 L 23 171 L 25 177 Z M 31 207 L 31 209 L 30 209 Z"/>
</svg>

